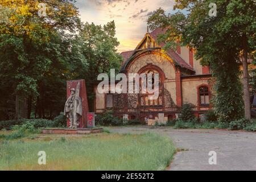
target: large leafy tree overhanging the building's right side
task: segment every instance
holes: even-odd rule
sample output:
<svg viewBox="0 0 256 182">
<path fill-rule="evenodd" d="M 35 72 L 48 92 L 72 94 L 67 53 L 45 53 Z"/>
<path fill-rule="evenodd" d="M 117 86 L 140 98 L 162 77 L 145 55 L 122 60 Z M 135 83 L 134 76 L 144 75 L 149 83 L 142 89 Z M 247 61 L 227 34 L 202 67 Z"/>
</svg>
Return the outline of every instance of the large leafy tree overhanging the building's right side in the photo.
<svg viewBox="0 0 256 182">
<path fill-rule="evenodd" d="M 252 0 L 221 0 L 216 2 L 217 16 L 209 16 L 210 3 L 212 2 L 208 0 L 176 0 L 175 9 L 187 10 L 187 15 L 180 12 L 166 15 L 162 9 L 159 9 L 148 19 L 148 24 L 151 28 L 157 26 L 169 28 L 170 31 L 167 31 L 167 34 L 160 36 L 160 40 L 166 42 L 167 47 L 174 45 L 169 42 L 176 41 L 179 35 L 182 35 L 181 42 L 196 49 L 197 59 L 200 59 L 202 64 L 210 64 L 213 76 L 217 78 L 218 84 L 222 85 L 216 88 L 217 98 L 224 98 L 220 97 L 220 95 L 224 96 L 223 93 L 230 96 L 230 93 L 223 92 L 223 90 L 232 89 L 238 92 L 238 94 L 232 92 L 234 95 L 229 97 L 232 103 L 235 100 L 240 101 L 238 90 L 240 86 L 237 80 L 238 65 L 242 60 L 243 105 L 245 117 L 250 118 L 247 56 L 255 50 L 256 5 Z M 228 72 L 219 75 L 225 71 Z M 228 73 L 230 75 L 227 75 Z M 236 78 L 232 79 L 233 76 Z M 235 82 L 228 82 L 229 85 L 225 86 L 227 82 L 222 80 L 224 78 L 230 78 L 230 81 Z M 229 108 L 229 101 L 226 100 L 223 104 L 223 106 L 217 105 L 222 110 L 222 114 Z M 230 113 L 229 117 L 224 118 L 228 120 L 233 118 L 231 113 L 240 115 L 241 108 L 239 107 L 241 106 L 234 104 L 231 106 L 233 111 L 227 112 Z"/>
</svg>

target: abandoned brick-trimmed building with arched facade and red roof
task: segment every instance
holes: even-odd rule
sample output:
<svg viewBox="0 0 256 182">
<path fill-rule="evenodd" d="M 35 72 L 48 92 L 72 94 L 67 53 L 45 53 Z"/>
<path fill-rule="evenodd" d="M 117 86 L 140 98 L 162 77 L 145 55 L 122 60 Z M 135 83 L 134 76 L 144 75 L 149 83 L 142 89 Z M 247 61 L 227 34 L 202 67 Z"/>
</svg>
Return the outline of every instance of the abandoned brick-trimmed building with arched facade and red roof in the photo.
<svg viewBox="0 0 256 182">
<path fill-rule="evenodd" d="M 122 52 L 123 63 L 120 72 L 159 73 L 159 97 L 148 100 L 148 94 L 100 94 L 95 87 L 96 114 L 113 110 L 118 117 L 126 115 L 128 119 L 156 120 L 158 114 L 164 114 L 164 121 L 177 117 L 180 107 L 187 103 L 194 107 L 195 115 L 201 117 L 210 109 L 210 71 L 208 66 L 200 65 L 195 59 L 194 50 L 177 46 L 163 50 L 164 44 L 158 44 L 156 38 L 163 34 L 162 28 L 156 28 L 146 35 L 134 51 Z M 179 45 L 179 44 L 178 44 Z"/>
</svg>

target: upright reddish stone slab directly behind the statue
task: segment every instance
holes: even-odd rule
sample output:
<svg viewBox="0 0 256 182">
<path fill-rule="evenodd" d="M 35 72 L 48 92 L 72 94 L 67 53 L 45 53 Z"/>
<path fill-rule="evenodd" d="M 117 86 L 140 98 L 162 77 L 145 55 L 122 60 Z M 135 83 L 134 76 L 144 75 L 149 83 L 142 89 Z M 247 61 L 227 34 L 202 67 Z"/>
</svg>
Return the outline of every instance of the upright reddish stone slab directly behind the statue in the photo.
<svg viewBox="0 0 256 182">
<path fill-rule="evenodd" d="M 86 86 L 85 80 L 69 80 L 67 81 L 67 98 L 71 95 L 71 89 L 76 89 L 77 84 L 80 83 L 80 92 L 79 97 L 82 100 L 82 116 L 78 121 L 78 128 L 84 129 L 87 126 L 87 113 L 89 111 L 88 108 L 88 101 L 87 101 L 87 94 L 86 94 Z M 70 126 L 70 121 L 67 119 L 67 126 Z"/>
</svg>

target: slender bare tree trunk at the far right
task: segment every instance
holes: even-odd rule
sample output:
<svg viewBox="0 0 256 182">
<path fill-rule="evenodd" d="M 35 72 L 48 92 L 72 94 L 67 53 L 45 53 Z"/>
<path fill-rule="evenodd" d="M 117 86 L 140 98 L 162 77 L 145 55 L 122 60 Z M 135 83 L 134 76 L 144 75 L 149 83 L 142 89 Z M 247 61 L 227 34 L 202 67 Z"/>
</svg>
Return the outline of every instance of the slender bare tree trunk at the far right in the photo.
<svg viewBox="0 0 256 182">
<path fill-rule="evenodd" d="M 248 74 L 248 63 L 247 63 L 247 39 L 243 36 L 243 53 L 242 53 L 242 64 L 243 64 L 243 100 L 245 102 L 245 118 L 251 119 L 251 104 L 250 104 L 250 90 L 249 90 L 249 74 Z"/>
</svg>

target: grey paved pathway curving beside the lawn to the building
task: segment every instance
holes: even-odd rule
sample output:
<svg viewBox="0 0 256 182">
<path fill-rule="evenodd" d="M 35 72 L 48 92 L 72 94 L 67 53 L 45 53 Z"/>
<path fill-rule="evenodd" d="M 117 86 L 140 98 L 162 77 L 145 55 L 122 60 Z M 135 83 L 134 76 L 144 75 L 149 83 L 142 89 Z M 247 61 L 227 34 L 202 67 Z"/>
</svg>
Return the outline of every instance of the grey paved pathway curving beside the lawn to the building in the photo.
<svg viewBox="0 0 256 182">
<path fill-rule="evenodd" d="M 180 152 L 170 170 L 256 170 L 256 133 L 230 130 L 179 129 L 171 127 L 111 127 L 118 133 L 156 132 L 169 136 Z M 209 164 L 209 152 L 217 164 Z"/>
</svg>

